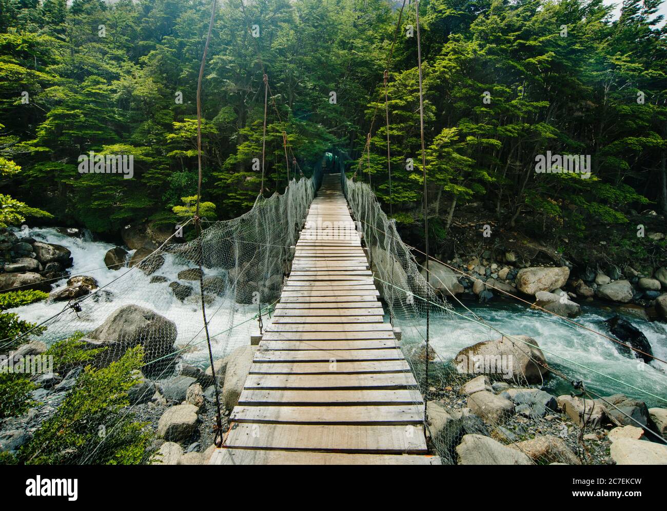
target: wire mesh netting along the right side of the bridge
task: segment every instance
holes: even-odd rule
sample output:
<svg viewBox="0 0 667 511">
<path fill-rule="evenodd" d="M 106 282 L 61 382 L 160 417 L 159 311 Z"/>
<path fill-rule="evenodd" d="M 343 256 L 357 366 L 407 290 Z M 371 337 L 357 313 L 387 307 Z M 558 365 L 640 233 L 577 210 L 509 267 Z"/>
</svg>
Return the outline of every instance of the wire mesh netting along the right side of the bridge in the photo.
<svg viewBox="0 0 667 511">
<path fill-rule="evenodd" d="M 458 274 L 432 262 L 427 284 L 424 264 L 401 240 L 370 185 L 341 171 L 376 286 L 392 324 L 402 332 L 404 356 L 428 402 L 427 434 L 443 464 L 603 463 L 610 445 L 606 429 L 653 426 L 626 416 L 611 398 L 586 391 L 590 373 L 580 364 L 545 354 L 533 338 L 489 326 L 456 298 Z M 447 334 L 439 328 L 452 320 L 458 322 L 456 330 Z M 442 358 L 431 347 L 427 351 L 427 322 L 430 341 L 440 345 L 456 346 L 455 338 L 442 336 L 462 335 L 469 322 L 486 334 Z"/>
</svg>

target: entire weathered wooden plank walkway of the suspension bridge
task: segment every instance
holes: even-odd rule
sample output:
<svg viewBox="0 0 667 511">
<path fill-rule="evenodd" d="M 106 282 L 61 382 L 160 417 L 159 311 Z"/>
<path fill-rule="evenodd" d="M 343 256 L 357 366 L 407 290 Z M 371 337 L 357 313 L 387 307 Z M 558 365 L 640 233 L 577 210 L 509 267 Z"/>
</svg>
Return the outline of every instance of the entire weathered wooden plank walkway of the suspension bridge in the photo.
<svg viewBox="0 0 667 511">
<path fill-rule="evenodd" d="M 325 175 L 211 464 L 440 464 L 340 189 Z"/>
</svg>

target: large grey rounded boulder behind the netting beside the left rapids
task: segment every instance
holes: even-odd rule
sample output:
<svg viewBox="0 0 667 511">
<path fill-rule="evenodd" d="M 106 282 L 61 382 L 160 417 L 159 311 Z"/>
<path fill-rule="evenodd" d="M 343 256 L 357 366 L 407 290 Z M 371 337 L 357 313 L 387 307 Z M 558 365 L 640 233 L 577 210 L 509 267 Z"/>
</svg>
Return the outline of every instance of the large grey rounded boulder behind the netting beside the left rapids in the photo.
<svg viewBox="0 0 667 511">
<path fill-rule="evenodd" d="M 99 327 L 88 335 L 91 347 L 106 347 L 96 356 L 97 364 L 107 366 L 134 346 L 143 346 L 147 376 L 159 376 L 173 366 L 173 344 L 176 340 L 174 322 L 157 312 L 136 305 L 116 309 Z M 151 364 L 153 360 L 157 360 Z"/>
</svg>

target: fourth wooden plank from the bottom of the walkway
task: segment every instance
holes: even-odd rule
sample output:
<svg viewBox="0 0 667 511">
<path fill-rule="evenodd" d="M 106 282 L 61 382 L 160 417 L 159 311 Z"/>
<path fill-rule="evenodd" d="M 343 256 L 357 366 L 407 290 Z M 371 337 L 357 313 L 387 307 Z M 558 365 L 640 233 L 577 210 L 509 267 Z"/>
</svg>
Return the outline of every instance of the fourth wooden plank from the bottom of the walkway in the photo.
<svg viewBox="0 0 667 511">
<path fill-rule="evenodd" d="M 404 390 L 243 390 L 239 404 L 253 406 L 323 406 L 336 404 L 424 404 L 422 395 L 415 389 Z"/>
</svg>

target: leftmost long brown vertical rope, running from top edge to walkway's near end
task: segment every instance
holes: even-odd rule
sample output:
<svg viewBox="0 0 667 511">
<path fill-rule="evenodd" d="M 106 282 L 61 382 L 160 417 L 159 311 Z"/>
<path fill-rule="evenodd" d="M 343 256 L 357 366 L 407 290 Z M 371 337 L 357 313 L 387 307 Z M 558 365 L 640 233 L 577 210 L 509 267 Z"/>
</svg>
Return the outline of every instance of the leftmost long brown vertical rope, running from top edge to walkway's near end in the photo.
<svg viewBox="0 0 667 511">
<path fill-rule="evenodd" d="M 199 218 L 199 202 L 201 201 L 201 81 L 204 75 L 204 66 L 206 65 L 206 53 L 208 52 L 209 42 L 211 41 L 211 31 L 213 31 L 213 21 L 215 20 L 216 0 L 213 0 L 211 5 L 211 19 L 209 21 L 209 29 L 206 34 L 206 43 L 204 45 L 203 55 L 201 55 L 201 65 L 199 66 L 199 78 L 197 79 L 197 207 L 195 208 L 195 226 L 197 228 L 197 237 L 199 239 L 199 294 L 201 295 L 201 316 L 204 322 L 204 330 L 206 332 L 206 343 L 209 350 L 209 361 L 211 362 L 211 375 L 213 376 L 213 388 L 215 389 L 215 428 L 213 432 L 213 443 L 220 447 L 222 445 L 222 417 L 220 414 L 220 391 L 217 386 L 217 379 L 215 378 L 215 367 L 213 366 L 213 349 L 211 348 L 211 337 L 208 331 L 208 321 L 206 319 L 206 304 L 204 302 L 203 291 L 203 241 L 201 235 L 201 219 Z"/>
</svg>

